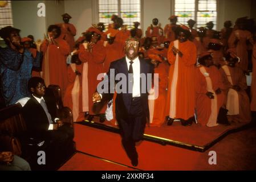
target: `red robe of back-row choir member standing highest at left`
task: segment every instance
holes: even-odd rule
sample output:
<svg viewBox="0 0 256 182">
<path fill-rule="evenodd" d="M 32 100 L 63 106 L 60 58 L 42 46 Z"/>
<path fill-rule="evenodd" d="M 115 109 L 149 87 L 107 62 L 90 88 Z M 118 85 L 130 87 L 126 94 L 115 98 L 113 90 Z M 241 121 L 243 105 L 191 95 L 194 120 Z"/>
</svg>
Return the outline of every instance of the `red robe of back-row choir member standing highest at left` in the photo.
<svg viewBox="0 0 256 182">
<path fill-rule="evenodd" d="M 71 23 L 60 23 L 58 26 L 62 30 L 62 38 L 67 41 L 68 45 L 70 46 L 70 51 L 73 51 L 75 46 L 75 39 L 74 36 L 76 35 L 76 28 L 74 24 Z"/>
</svg>

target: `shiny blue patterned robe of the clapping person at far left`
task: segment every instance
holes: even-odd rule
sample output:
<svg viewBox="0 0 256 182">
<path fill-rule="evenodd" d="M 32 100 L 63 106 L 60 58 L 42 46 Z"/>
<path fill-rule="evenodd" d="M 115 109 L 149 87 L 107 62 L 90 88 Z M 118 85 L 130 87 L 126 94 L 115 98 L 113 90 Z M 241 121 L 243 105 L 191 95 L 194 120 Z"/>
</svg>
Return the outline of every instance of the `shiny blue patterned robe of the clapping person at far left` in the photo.
<svg viewBox="0 0 256 182">
<path fill-rule="evenodd" d="M 8 46 L 0 48 L 0 90 L 6 106 L 30 97 L 27 82 L 31 78 L 32 67 L 40 67 L 41 58 L 42 54 L 37 52 L 34 59 L 27 49 L 22 55 Z"/>
</svg>

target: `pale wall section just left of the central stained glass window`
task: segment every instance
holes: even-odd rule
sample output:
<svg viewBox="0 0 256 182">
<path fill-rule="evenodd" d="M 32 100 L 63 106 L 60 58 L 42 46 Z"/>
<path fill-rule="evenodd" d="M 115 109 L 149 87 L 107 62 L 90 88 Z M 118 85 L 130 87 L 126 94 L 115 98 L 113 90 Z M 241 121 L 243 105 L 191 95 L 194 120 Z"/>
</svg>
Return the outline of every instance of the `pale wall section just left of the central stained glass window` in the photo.
<svg viewBox="0 0 256 182">
<path fill-rule="evenodd" d="M 70 23 L 76 27 L 75 39 L 81 36 L 82 32 L 91 27 L 92 24 L 92 0 L 69 0 L 64 1 L 65 13 L 72 16 Z"/>
</svg>

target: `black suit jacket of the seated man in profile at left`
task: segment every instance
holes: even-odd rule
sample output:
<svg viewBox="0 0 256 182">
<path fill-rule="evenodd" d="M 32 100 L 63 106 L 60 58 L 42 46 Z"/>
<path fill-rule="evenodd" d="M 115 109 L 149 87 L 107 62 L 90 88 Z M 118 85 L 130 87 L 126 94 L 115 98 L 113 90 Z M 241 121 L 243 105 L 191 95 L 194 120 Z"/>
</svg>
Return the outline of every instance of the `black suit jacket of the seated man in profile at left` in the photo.
<svg viewBox="0 0 256 182">
<path fill-rule="evenodd" d="M 47 93 L 47 92 L 46 92 Z M 47 109 L 51 114 L 52 122 L 57 117 L 56 115 L 56 103 L 51 97 L 44 96 Z M 25 119 L 27 130 L 30 136 L 44 138 L 47 136 L 49 122 L 43 107 L 39 104 L 34 97 L 31 97 L 29 101 L 22 108 L 22 115 Z"/>
</svg>

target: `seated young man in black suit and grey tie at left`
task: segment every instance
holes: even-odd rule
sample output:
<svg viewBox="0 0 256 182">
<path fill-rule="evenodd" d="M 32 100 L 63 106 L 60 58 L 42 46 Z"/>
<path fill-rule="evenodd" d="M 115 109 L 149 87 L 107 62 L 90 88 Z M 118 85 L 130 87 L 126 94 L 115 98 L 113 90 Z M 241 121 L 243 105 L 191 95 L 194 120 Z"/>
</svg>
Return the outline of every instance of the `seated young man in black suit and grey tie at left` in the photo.
<svg viewBox="0 0 256 182">
<path fill-rule="evenodd" d="M 51 97 L 44 96 L 46 86 L 42 78 L 30 78 L 28 88 L 32 97 L 22 108 L 28 135 L 46 142 L 51 141 L 50 152 L 64 156 L 67 146 L 72 143 L 74 137 L 73 129 L 57 118 L 55 102 Z"/>
</svg>

